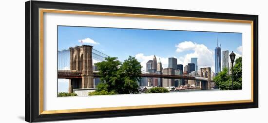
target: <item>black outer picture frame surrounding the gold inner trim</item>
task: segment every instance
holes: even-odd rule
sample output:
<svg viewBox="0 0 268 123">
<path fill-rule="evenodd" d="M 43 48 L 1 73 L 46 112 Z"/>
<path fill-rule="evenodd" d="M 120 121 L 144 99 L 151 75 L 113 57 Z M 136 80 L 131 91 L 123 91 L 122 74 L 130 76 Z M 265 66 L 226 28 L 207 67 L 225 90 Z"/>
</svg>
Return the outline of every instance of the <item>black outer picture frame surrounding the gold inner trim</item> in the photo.
<svg viewBox="0 0 268 123">
<path fill-rule="evenodd" d="M 77 113 L 39 113 L 39 8 L 130 13 L 210 19 L 253 21 L 253 102 L 179 107 L 142 108 Z M 155 8 L 109 6 L 95 4 L 27 1 L 25 2 L 25 121 L 42 122 L 86 118 L 124 117 L 166 113 L 182 113 L 212 110 L 228 110 L 258 107 L 258 16 Z"/>
</svg>

